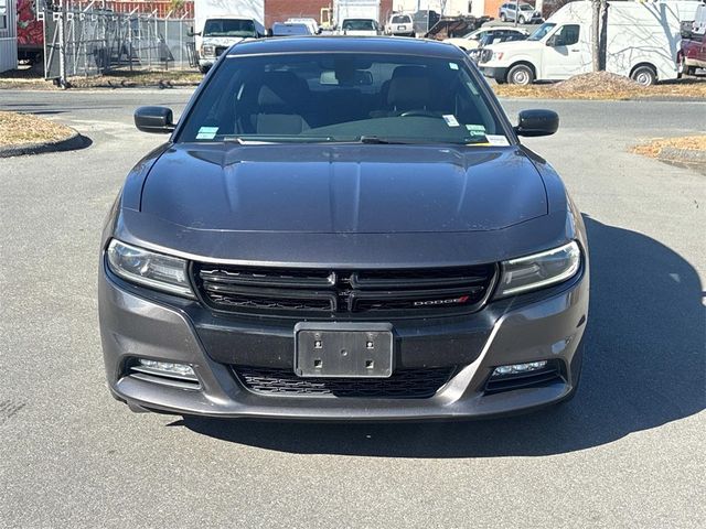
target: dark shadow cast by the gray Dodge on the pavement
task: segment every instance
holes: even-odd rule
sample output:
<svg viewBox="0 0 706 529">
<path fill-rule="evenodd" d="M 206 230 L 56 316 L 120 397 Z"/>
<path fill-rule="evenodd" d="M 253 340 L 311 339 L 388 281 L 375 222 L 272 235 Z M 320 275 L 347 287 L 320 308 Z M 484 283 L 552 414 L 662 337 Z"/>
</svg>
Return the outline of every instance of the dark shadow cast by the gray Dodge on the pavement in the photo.
<svg viewBox="0 0 706 529">
<path fill-rule="evenodd" d="M 706 402 L 706 319 L 694 268 L 635 231 L 586 217 L 591 307 L 581 387 L 561 407 L 485 421 L 299 423 L 184 418 L 173 425 L 292 453 L 393 457 L 547 455 L 676 421 Z"/>
</svg>

